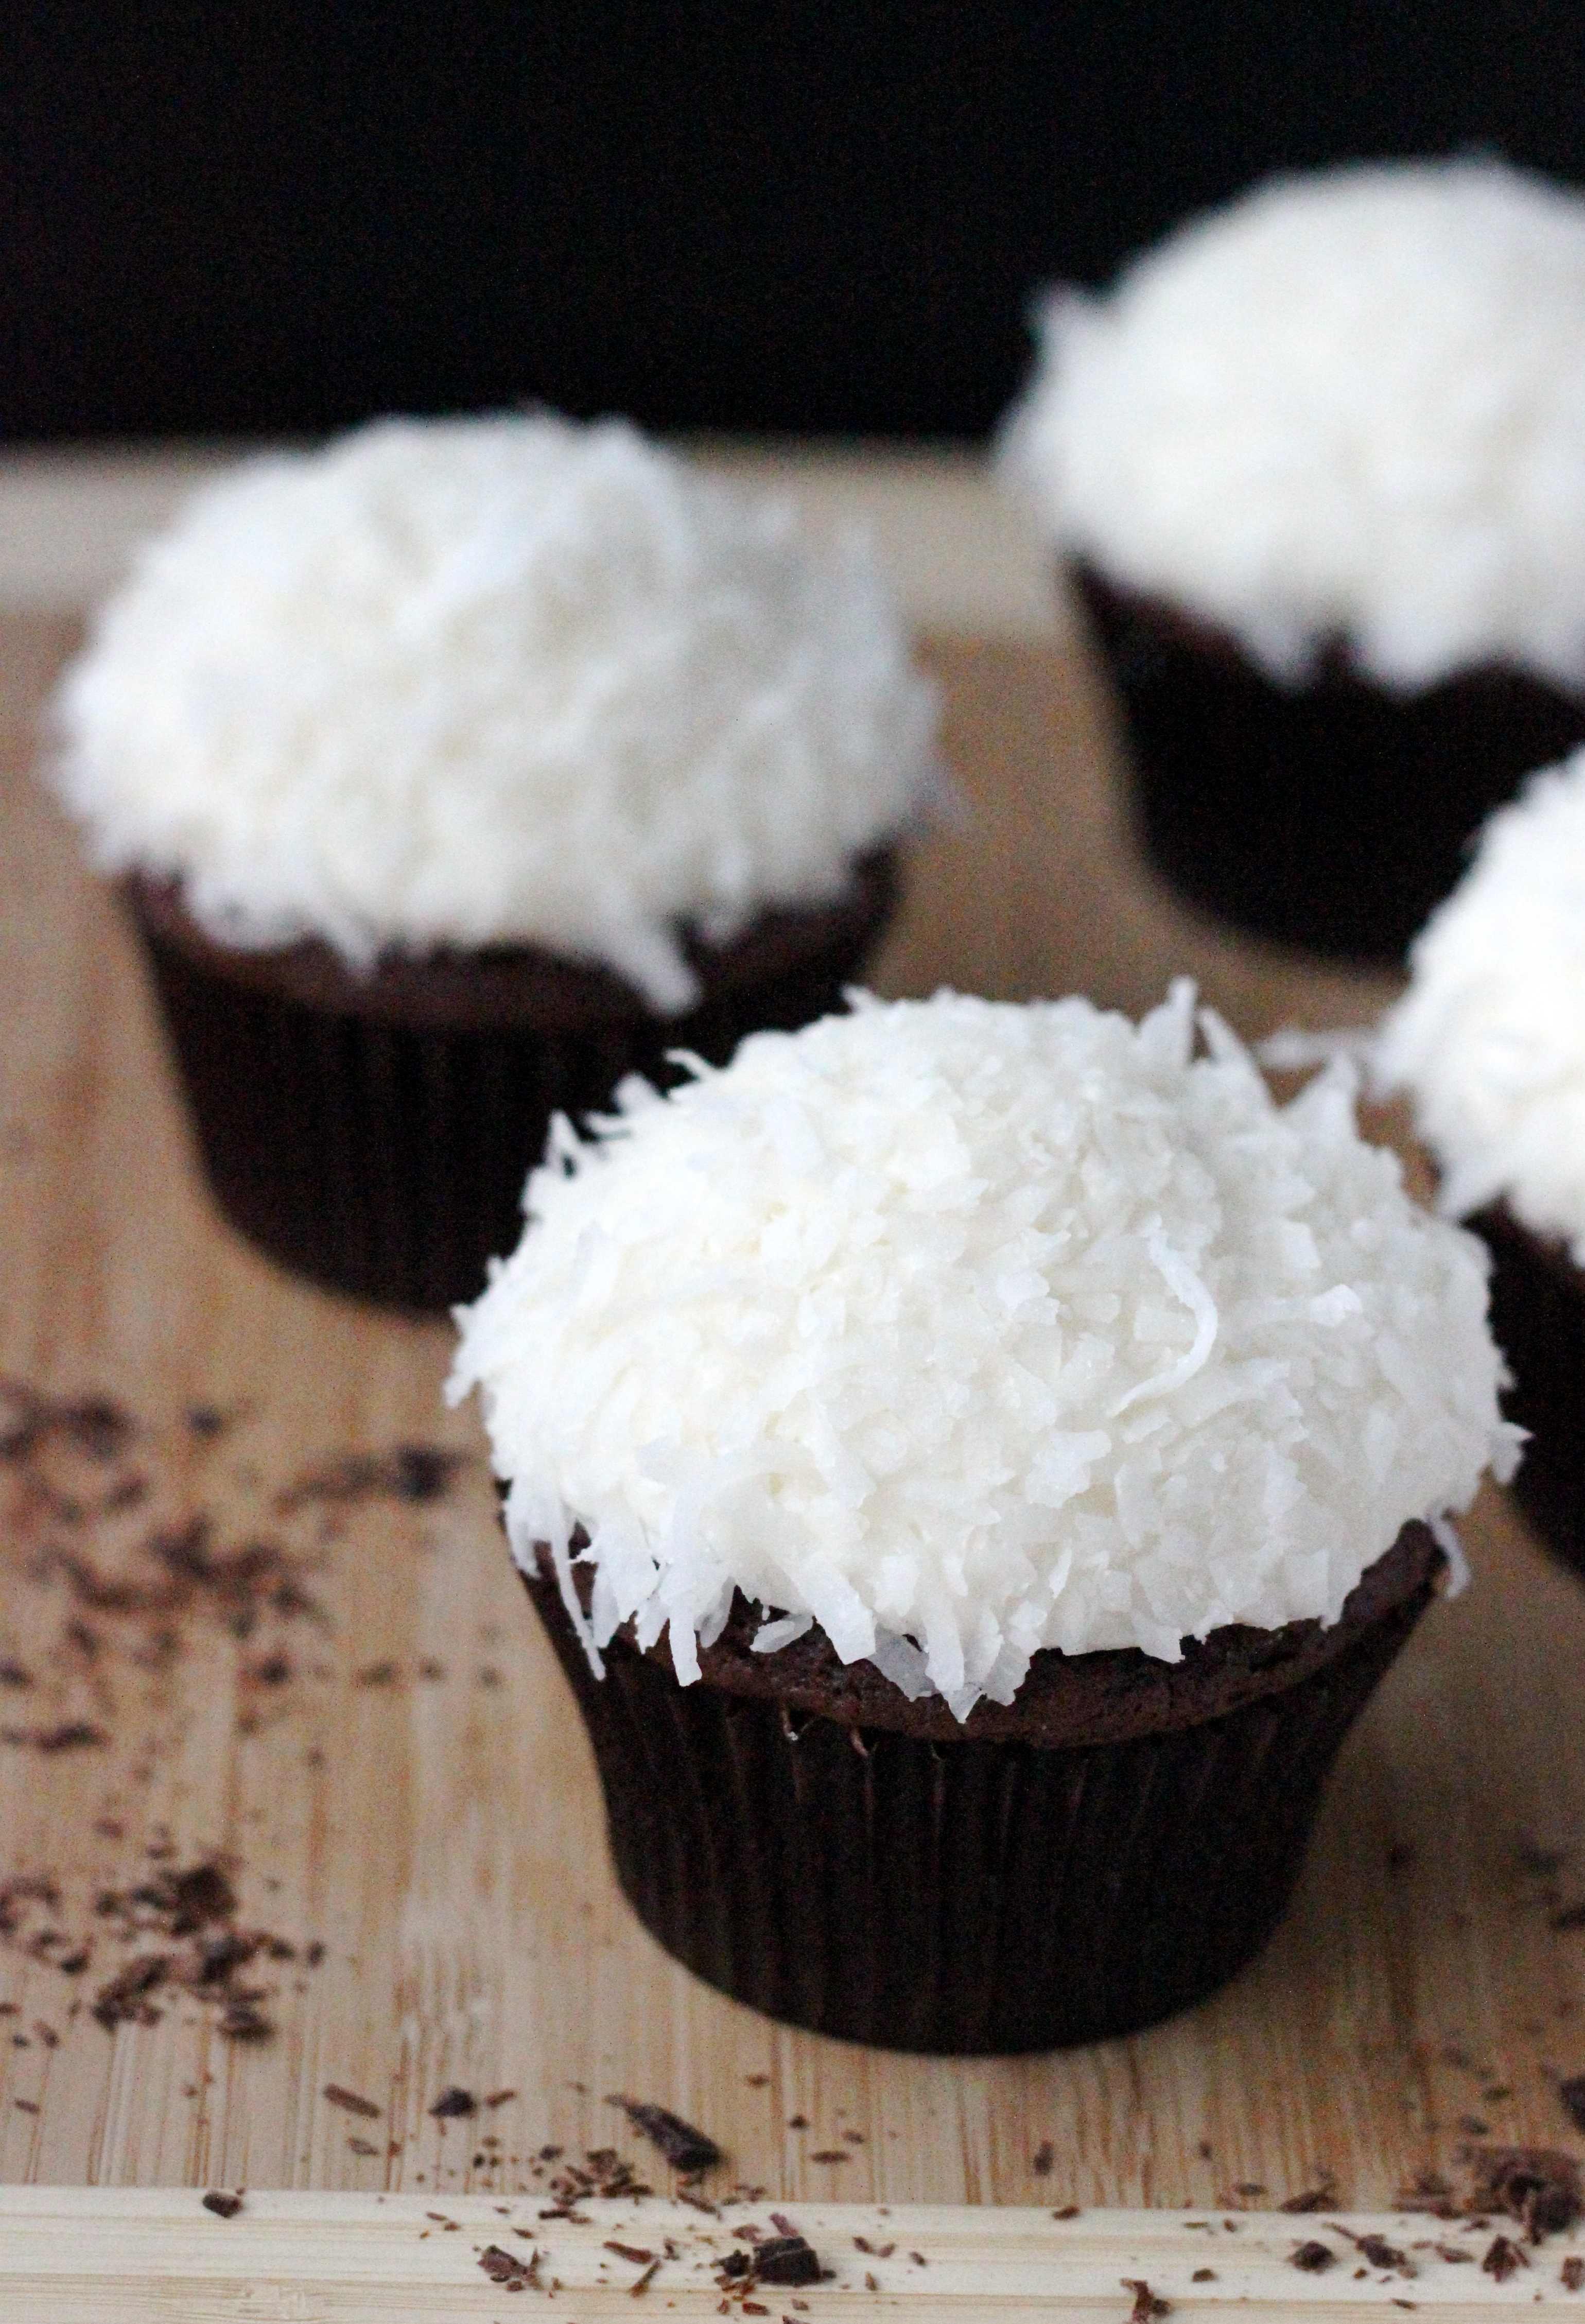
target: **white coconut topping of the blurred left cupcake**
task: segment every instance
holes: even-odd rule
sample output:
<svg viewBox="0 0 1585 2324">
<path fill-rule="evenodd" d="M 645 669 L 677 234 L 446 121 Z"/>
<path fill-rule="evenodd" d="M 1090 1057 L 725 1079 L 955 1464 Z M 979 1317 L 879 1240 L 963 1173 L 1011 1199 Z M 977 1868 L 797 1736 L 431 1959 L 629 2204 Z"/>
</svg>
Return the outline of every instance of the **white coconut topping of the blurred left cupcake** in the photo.
<svg viewBox="0 0 1585 2324">
<path fill-rule="evenodd" d="M 251 460 L 70 669 L 56 786 L 209 934 L 535 944 L 660 1011 L 918 816 L 934 688 L 848 544 L 621 421 L 381 421 Z"/>
</svg>

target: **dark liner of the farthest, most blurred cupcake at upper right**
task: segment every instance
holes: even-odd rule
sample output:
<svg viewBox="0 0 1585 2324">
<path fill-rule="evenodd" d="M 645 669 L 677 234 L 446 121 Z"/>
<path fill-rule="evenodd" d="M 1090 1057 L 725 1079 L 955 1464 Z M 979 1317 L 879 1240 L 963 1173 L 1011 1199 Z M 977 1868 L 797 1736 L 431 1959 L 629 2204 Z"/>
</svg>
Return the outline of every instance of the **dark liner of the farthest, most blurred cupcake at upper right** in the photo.
<svg viewBox="0 0 1585 2324">
<path fill-rule="evenodd" d="M 1585 700 L 1518 669 L 1394 693 L 1329 653 L 1278 686 L 1236 641 L 1071 569 L 1123 704 L 1146 855 L 1236 927 L 1399 960 L 1485 818 L 1585 741 Z"/>
</svg>

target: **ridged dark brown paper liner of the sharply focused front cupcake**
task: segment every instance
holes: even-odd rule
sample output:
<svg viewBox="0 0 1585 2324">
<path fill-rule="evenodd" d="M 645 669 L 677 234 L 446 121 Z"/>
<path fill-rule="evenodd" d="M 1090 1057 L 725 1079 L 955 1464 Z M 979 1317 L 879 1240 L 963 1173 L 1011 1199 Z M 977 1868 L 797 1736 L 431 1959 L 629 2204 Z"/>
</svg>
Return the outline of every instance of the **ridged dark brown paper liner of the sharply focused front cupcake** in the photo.
<svg viewBox="0 0 1585 2324">
<path fill-rule="evenodd" d="M 1057 1748 L 679 1687 L 621 1636 L 600 1680 L 555 1583 L 528 1592 L 588 1724 L 616 1875 L 667 1952 L 818 2033 L 1006 2054 L 1129 2033 L 1264 1945 L 1420 1576 L 1281 1694 Z"/>
</svg>

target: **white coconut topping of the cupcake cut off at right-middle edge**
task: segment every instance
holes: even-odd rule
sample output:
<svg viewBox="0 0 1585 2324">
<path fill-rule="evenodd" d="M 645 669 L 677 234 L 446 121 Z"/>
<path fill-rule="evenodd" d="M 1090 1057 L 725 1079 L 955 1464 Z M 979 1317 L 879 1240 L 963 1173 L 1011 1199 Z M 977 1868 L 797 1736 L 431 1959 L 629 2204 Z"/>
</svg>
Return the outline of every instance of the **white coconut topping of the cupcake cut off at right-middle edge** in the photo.
<svg viewBox="0 0 1585 2324">
<path fill-rule="evenodd" d="M 1374 1069 L 1455 1218 L 1501 1197 L 1585 1267 L 1585 751 L 1532 776 L 1408 955 Z"/>
</svg>

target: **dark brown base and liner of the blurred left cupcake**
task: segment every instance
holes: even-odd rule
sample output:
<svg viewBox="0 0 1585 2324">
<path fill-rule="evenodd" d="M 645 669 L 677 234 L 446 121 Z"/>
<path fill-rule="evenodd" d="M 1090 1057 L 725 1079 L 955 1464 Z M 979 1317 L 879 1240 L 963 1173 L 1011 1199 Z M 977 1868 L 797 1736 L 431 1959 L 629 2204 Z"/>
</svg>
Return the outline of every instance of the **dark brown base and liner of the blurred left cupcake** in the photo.
<svg viewBox="0 0 1585 2324">
<path fill-rule="evenodd" d="M 658 1018 L 614 976 L 528 953 L 486 955 L 483 997 L 458 962 L 353 990 L 323 948 L 232 955 L 128 885 L 221 1211 L 284 1267 L 418 1311 L 476 1299 L 516 1246 L 555 1111 L 600 1111 L 623 1074 L 676 1081 L 667 1050 L 725 1064 L 748 1032 L 839 1009 L 892 892 L 876 858 L 848 904 L 767 916 L 730 976 L 695 953 L 702 1006 Z"/>
</svg>

